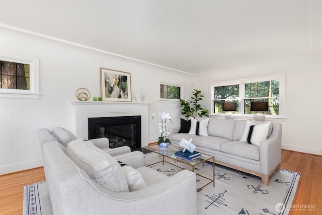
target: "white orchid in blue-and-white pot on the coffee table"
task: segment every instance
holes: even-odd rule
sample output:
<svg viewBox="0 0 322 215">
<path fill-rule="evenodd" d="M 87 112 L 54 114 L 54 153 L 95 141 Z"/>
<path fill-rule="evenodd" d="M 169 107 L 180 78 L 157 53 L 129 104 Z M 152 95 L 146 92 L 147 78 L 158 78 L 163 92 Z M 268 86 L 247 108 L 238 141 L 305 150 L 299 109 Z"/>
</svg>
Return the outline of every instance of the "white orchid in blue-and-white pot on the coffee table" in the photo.
<svg viewBox="0 0 322 215">
<path fill-rule="evenodd" d="M 161 122 L 159 123 L 161 136 L 158 137 L 157 145 L 160 147 L 160 149 L 167 149 L 169 144 L 171 144 L 171 141 L 168 138 L 169 131 L 167 130 L 167 119 L 169 122 L 173 123 L 171 116 L 165 111 L 162 113 L 154 113 L 152 119 L 154 119 L 155 116 L 161 116 Z"/>
</svg>

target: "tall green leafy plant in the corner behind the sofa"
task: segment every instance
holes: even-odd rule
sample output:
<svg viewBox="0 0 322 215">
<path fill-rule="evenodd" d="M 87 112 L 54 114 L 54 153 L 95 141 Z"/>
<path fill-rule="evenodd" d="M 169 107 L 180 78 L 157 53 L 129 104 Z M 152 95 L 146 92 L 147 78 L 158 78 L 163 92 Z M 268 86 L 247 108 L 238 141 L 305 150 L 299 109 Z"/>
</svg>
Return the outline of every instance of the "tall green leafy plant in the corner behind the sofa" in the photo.
<svg viewBox="0 0 322 215">
<path fill-rule="evenodd" d="M 209 116 L 209 110 L 206 109 L 206 107 L 202 108 L 201 105 L 198 104 L 198 102 L 202 100 L 202 97 L 204 97 L 203 95 L 201 95 L 201 91 L 194 89 L 192 95 L 192 101 L 185 101 L 183 99 L 180 99 L 180 106 L 182 108 L 181 114 L 185 115 L 187 118 L 189 116 L 196 118 L 197 115 L 199 117 Z"/>
</svg>

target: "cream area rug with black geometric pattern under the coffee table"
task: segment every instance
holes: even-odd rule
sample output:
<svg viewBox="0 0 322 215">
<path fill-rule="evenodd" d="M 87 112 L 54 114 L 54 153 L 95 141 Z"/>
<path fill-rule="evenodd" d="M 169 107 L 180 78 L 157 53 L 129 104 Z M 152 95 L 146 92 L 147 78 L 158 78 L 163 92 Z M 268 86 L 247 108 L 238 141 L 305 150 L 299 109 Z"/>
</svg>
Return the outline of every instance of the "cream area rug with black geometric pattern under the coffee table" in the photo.
<svg viewBox="0 0 322 215">
<path fill-rule="evenodd" d="M 144 154 L 145 166 L 162 161 L 156 153 Z M 175 160 L 168 160 L 184 169 L 191 167 Z M 150 166 L 155 171 L 171 177 L 182 169 L 162 163 Z M 212 164 L 205 163 L 195 168 L 209 178 L 212 177 Z M 215 165 L 215 187 L 209 184 L 197 193 L 199 215 L 207 214 L 288 214 L 296 192 L 300 173 L 281 169 L 270 177 L 269 186 L 262 184 L 261 178 L 244 172 Z M 197 176 L 197 188 L 207 183 Z M 23 214 L 52 214 L 46 181 L 24 187 Z"/>
</svg>

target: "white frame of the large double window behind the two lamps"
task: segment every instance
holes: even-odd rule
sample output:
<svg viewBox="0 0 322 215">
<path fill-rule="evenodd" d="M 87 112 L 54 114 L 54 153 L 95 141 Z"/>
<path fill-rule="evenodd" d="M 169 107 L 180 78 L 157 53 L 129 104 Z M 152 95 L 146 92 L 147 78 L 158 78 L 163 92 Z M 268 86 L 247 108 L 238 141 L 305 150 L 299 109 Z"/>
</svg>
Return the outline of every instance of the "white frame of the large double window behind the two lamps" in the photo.
<svg viewBox="0 0 322 215">
<path fill-rule="evenodd" d="M 231 81 L 211 82 L 210 83 L 210 109 L 209 115 L 214 117 L 224 117 L 223 113 L 214 113 L 214 88 L 220 86 L 237 85 L 239 84 L 239 100 L 238 100 L 238 113 L 234 114 L 236 119 L 252 119 L 254 114 L 245 114 L 245 84 L 254 82 L 264 82 L 271 80 L 279 80 L 279 115 L 267 115 L 268 119 L 285 119 L 285 74 L 276 74 L 271 76 L 262 76 L 256 78 L 244 78 Z"/>
</svg>

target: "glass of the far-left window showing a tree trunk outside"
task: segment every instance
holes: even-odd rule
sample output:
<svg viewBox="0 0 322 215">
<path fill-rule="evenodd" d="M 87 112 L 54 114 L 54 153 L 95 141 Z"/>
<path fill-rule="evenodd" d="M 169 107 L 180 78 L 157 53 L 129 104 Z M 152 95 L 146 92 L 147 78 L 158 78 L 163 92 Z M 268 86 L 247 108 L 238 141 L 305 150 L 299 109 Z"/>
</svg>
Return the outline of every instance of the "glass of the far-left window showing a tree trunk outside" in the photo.
<svg viewBox="0 0 322 215">
<path fill-rule="evenodd" d="M 1 88 L 30 90 L 29 64 L 0 61 Z"/>
</svg>

